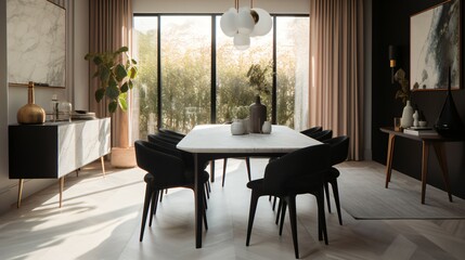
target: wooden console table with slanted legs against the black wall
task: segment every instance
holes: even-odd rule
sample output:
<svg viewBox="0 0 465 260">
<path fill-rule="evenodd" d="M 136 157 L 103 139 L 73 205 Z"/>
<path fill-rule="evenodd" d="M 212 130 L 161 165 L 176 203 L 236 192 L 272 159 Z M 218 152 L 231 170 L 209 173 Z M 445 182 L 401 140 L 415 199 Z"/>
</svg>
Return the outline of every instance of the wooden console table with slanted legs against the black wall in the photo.
<svg viewBox="0 0 465 260">
<path fill-rule="evenodd" d="M 396 136 L 406 138 L 411 140 L 415 140 L 422 142 L 422 204 L 425 204 L 425 191 L 426 191 L 426 178 L 428 173 L 428 155 L 429 147 L 432 145 L 436 152 L 436 156 L 438 158 L 439 165 L 442 170 L 442 178 L 445 184 L 445 191 L 448 192 L 449 202 L 452 202 L 451 190 L 449 186 L 449 169 L 444 150 L 444 142 L 461 142 L 462 139 L 447 139 L 441 135 L 432 135 L 432 136 L 417 136 L 413 134 L 408 134 L 403 132 L 395 131 L 392 127 L 390 128 L 380 128 L 382 132 L 389 134 L 388 140 L 388 153 L 386 160 L 386 188 L 390 182 L 391 170 L 392 170 L 392 155 L 393 155 L 393 146 Z"/>
</svg>

